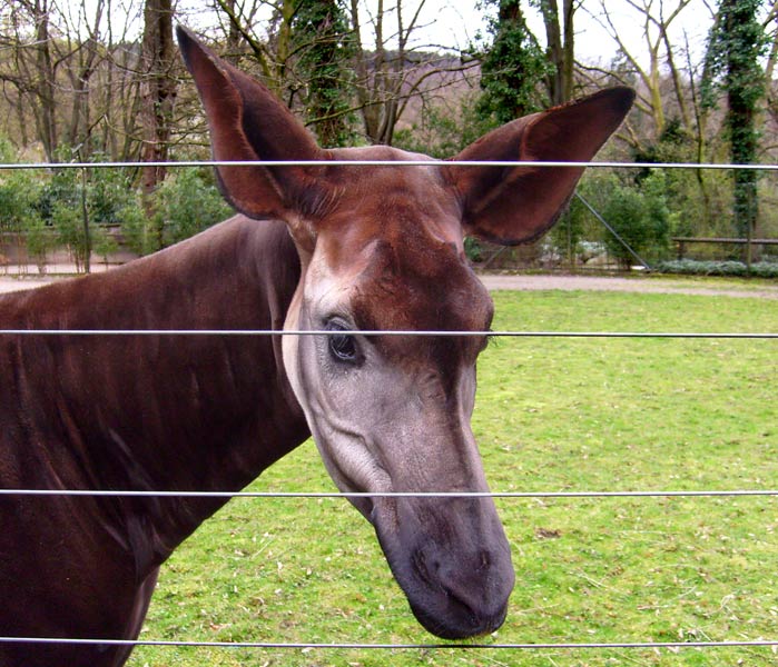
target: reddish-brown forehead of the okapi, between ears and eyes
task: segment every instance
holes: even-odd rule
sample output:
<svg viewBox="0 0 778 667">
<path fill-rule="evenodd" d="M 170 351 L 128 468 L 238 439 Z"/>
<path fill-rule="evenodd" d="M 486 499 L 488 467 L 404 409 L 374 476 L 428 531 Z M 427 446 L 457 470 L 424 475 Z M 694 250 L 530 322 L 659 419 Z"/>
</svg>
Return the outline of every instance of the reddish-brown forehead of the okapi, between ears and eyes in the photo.
<svg viewBox="0 0 778 667">
<path fill-rule="evenodd" d="M 387 147 L 337 159 L 420 160 Z M 341 168 L 348 178 L 319 227 L 317 253 L 362 329 L 473 330 L 492 302 L 466 263 L 460 201 L 435 163 Z M 355 272 L 355 268 L 356 269 Z"/>
</svg>

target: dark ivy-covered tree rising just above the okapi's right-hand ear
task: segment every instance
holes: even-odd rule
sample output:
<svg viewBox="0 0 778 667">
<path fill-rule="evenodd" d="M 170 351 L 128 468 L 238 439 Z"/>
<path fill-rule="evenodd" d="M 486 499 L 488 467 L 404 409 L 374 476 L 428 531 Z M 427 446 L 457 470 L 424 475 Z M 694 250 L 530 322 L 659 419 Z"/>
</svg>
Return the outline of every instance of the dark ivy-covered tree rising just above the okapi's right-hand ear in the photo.
<svg viewBox="0 0 778 667">
<path fill-rule="evenodd" d="M 489 21 L 493 37 L 481 61 L 479 110 L 495 125 L 548 106 L 541 83 L 551 73 L 545 53 L 526 24 L 521 0 L 485 0 L 496 6 Z"/>
</svg>

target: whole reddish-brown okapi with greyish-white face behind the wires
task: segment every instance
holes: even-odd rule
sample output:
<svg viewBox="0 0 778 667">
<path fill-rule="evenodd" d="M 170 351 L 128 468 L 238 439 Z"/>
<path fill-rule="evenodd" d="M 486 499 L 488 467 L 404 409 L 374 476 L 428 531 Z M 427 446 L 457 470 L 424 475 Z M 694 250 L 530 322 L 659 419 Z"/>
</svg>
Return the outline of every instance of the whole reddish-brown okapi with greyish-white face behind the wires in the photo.
<svg viewBox="0 0 778 667">
<path fill-rule="evenodd" d="M 259 82 L 185 29 L 238 215 L 104 275 L 0 299 L 0 485 L 236 491 L 313 434 L 346 492 L 488 491 L 470 428 L 492 301 L 463 237 L 542 235 L 583 169 L 455 166 L 387 147 L 325 150 Z M 515 120 L 463 161 L 588 161 L 633 99 L 613 88 Z M 348 167 L 334 160 L 390 160 Z M 407 160 L 426 166 L 403 167 Z M 322 336 L 19 335 L 13 329 L 273 329 Z M 135 639 L 157 571 L 226 500 L 0 497 L 0 636 Z M 491 498 L 357 497 L 413 614 L 463 638 L 514 585 Z M 0 665 L 117 666 L 109 644 L 0 643 Z"/>
</svg>

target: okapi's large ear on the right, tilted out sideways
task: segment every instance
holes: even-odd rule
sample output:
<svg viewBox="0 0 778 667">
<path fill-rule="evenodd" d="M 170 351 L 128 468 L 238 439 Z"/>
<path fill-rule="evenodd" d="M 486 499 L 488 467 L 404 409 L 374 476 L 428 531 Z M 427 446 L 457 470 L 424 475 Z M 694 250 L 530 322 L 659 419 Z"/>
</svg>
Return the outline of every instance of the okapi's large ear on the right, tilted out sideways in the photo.
<svg viewBox="0 0 778 667">
<path fill-rule="evenodd" d="M 621 125 L 634 99 L 611 88 L 514 120 L 465 148 L 455 160 L 588 162 Z M 564 210 L 580 167 L 445 167 L 463 202 L 464 231 L 514 246 L 532 241 Z"/>
</svg>

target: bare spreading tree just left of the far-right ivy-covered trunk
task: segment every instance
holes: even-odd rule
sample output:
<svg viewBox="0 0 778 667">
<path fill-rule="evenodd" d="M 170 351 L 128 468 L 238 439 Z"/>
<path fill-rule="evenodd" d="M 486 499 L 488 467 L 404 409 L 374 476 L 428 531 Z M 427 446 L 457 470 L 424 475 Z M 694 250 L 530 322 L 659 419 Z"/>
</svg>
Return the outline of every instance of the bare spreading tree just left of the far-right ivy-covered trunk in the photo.
<svg viewBox="0 0 778 667">
<path fill-rule="evenodd" d="M 705 4 L 709 7 L 708 2 Z M 607 81 L 627 83 L 638 90 L 637 113 L 622 132 L 637 161 L 716 159 L 715 151 L 720 147 L 717 128 L 708 127 L 709 120 L 716 119 L 709 118 L 699 94 L 699 82 L 706 77 L 705 64 L 695 60 L 695 49 L 686 31 L 678 30 L 678 23 L 692 11 L 700 12 L 700 22 L 713 21 L 713 11 L 706 8 L 690 0 L 624 0 L 618 4 L 622 12 L 619 21 L 613 3 L 601 0 L 599 13 L 591 14 L 611 36 L 618 57 L 610 68 L 590 66 L 581 70 L 592 80 L 592 76 L 604 74 Z M 624 37 L 622 27 L 627 16 L 634 17 L 641 27 L 641 41 L 631 43 Z M 690 225 L 693 220 L 698 236 L 720 236 L 718 229 L 712 231 L 721 211 L 717 175 L 699 169 L 693 175 L 678 170 L 667 175 L 667 183 L 676 196 L 676 206 L 687 206 L 685 201 L 690 197 L 699 202 L 689 207 L 686 216 Z"/>
</svg>

